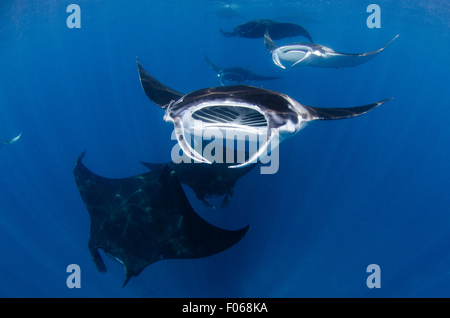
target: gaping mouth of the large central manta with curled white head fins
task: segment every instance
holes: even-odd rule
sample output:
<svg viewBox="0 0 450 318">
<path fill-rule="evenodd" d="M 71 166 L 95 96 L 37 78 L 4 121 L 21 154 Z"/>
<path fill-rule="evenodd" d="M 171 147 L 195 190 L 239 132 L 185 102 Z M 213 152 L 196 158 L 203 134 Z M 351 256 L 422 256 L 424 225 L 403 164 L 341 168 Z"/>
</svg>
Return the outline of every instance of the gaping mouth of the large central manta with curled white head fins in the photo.
<svg viewBox="0 0 450 318">
<path fill-rule="evenodd" d="M 207 102 L 191 111 L 183 112 L 174 124 L 180 127 L 175 129 L 175 133 L 184 153 L 196 161 L 205 163 L 216 160 L 222 162 L 223 153 L 227 157 L 223 160 L 227 163 L 231 163 L 229 160 L 238 163 L 230 166 L 232 168 L 250 164 L 250 158 L 254 159 L 256 153 L 260 155 L 261 145 L 262 150 L 267 148 L 265 144 L 269 134 L 269 121 L 255 106 L 242 104 L 229 101 Z M 219 153 L 216 152 L 217 146 L 222 149 Z M 233 158 L 237 155 L 240 159 L 230 159 L 232 158 L 228 154 L 230 151 L 235 154 Z M 205 154 L 209 157 L 204 157 Z"/>
</svg>

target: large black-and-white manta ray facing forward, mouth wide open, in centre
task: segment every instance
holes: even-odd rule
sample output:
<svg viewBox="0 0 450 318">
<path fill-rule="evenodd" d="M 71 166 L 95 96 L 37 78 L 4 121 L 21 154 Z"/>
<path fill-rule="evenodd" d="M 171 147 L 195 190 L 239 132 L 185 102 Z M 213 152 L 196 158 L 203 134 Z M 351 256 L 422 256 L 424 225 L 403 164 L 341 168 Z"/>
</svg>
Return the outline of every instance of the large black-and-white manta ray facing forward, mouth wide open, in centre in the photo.
<svg viewBox="0 0 450 318">
<path fill-rule="evenodd" d="M 360 116 L 391 99 L 357 107 L 321 108 L 300 104 L 279 92 L 247 85 L 210 87 L 182 94 L 159 82 L 139 61 L 137 63 L 145 94 L 165 110 L 164 120 L 174 124 L 180 148 L 193 160 L 211 164 L 191 147 L 187 133 L 203 136 L 205 130 L 214 128 L 223 131 L 226 138 L 257 136 L 263 140 L 248 160 L 229 168 L 257 162 L 267 153 L 269 145 L 273 149 L 308 122 Z"/>
</svg>

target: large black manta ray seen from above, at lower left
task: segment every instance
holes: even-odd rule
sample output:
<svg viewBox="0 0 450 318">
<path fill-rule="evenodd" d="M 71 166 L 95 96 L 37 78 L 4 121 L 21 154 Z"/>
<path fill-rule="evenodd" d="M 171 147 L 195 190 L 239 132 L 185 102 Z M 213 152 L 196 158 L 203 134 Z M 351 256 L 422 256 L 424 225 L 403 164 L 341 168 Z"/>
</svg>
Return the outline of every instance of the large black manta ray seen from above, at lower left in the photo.
<svg viewBox="0 0 450 318">
<path fill-rule="evenodd" d="M 157 261 L 220 253 L 239 242 L 248 230 L 248 226 L 223 230 L 203 220 L 189 204 L 176 173 L 167 166 L 109 179 L 89 171 L 81 162 L 84 154 L 78 157 L 73 174 L 91 219 L 89 250 L 101 273 L 106 266 L 99 248 L 124 265 L 123 286 Z"/>
</svg>

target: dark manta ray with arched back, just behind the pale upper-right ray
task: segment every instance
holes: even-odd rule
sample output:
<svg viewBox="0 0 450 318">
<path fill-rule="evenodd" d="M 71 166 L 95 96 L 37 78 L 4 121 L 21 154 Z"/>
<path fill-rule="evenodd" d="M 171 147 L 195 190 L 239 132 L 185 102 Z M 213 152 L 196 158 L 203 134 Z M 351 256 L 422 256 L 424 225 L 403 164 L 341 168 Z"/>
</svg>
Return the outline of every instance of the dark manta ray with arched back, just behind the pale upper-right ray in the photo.
<svg viewBox="0 0 450 318">
<path fill-rule="evenodd" d="M 252 20 L 235 26 L 233 32 L 220 30 L 227 38 L 238 36 L 241 38 L 260 39 L 264 37 L 266 30 L 274 40 L 291 38 L 294 36 L 303 36 L 311 43 L 313 42 L 311 35 L 303 27 L 298 24 L 288 22 L 277 22 L 269 19 Z"/>
</svg>

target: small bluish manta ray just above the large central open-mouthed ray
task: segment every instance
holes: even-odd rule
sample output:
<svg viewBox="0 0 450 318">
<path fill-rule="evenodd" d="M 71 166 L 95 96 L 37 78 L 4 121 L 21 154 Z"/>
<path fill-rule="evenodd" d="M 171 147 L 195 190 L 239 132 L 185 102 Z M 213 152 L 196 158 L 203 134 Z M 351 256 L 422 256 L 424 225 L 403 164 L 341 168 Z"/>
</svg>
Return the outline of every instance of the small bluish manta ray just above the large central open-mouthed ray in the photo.
<svg viewBox="0 0 450 318">
<path fill-rule="evenodd" d="M 274 79 L 278 79 L 281 77 L 273 77 L 273 76 L 262 76 L 253 73 L 249 69 L 242 67 L 227 67 L 221 68 L 217 65 L 214 65 L 208 57 L 205 55 L 206 63 L 209 68 L 217 73 L 219 77 L 220 84 L 222 86 L 225 85 L 236 85 L 236 84 L 248 84 L 251 81 L 270 81 Z"/>
</svg>

